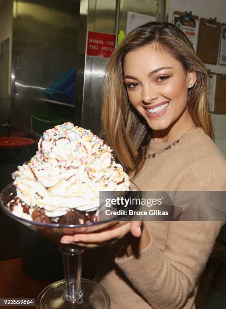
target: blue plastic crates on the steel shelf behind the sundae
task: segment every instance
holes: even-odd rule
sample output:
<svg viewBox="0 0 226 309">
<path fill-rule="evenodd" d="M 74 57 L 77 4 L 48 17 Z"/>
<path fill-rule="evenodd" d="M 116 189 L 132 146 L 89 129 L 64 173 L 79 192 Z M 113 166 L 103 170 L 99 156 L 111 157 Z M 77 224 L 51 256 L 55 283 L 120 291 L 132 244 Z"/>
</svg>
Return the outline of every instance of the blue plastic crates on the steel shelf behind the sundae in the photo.
<svg viewBox="0 0 226 309">
<path fill-rule="evenodd" d="M 76 91 L 75 68 L 67 70 L 58 80 L 54 81 L 44 91 L 48 99 L 53 101 L 65 101 L 74 103 Z"/>
</svg>

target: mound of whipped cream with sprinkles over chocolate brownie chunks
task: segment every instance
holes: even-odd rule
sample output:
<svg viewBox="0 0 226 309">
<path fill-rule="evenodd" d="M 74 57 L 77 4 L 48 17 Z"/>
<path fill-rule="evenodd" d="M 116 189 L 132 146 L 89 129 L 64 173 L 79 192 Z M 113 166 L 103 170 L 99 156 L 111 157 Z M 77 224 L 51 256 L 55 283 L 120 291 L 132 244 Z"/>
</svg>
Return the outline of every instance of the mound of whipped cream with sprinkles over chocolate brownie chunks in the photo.
<svg viewBox="0 0 226 309">
<path fill-rule="evenodd" d="M 98 221 L 99 191 L 129 189 L 128 175 L 111 149 L 72 123 L 44 132 L 36 155 L 13 173 L 16 216 L 46 223 Z"/>
</svg>

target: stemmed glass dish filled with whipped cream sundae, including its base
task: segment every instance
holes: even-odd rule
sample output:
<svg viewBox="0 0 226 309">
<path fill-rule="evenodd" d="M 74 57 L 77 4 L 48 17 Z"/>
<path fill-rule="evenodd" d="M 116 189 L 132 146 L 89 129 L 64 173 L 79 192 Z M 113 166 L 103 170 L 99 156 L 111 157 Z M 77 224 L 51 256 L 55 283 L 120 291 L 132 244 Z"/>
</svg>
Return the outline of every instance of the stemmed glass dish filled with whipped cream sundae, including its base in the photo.
<svg viewBox="0 0 226 309">
<path fill-rule="evenodd" d="M 44 132 L 36 155 L 18 167 L 13 178 L 14 183 L 1 193 L 2 210 L 57 242 L 63 253 L 65 280 L 46 287 L 36 307 L 108 308 L 107 291 L 81 279 L 84 248 L 60 240 L 64 235 L 91 233 L 117 222 L 117 216 L 100 221 L 104 205 L 99 206 L 99 191 L 119 191 L 127 197 L 139 192 L 110 148 L 89 130 L 65 123 Z"/>
</svg>

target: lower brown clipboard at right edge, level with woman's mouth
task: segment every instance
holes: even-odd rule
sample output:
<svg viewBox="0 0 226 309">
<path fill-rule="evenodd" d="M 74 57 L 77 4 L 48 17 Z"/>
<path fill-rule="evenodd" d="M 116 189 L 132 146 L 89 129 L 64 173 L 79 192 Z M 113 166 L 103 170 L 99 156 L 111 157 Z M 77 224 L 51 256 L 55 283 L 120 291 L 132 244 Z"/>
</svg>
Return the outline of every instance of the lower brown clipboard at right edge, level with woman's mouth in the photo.
<svg viewBox="0 0 226 309">
<path fill-rule="evenodd" d="M 214 114 L 226 114 L 226 74 L 216 74 Z"/>
</svg>

